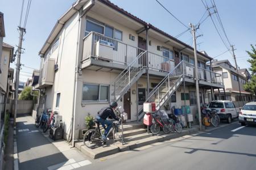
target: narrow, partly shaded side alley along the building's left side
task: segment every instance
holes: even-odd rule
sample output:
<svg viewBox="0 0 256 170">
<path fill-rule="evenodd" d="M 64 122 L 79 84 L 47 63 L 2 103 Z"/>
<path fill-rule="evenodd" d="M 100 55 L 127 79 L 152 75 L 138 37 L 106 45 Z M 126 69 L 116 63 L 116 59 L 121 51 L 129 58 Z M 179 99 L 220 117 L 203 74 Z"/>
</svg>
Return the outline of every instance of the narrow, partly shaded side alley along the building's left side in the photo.
<svg viewBox="0 0 256 170">
<path fill-rule="evenodd" d="M 93 161 L 67 142 L 49 139 L 36 128 L 31 116 L 17 118 L 16 145 L 20 170 L 84 168 Z"/>
</svg>

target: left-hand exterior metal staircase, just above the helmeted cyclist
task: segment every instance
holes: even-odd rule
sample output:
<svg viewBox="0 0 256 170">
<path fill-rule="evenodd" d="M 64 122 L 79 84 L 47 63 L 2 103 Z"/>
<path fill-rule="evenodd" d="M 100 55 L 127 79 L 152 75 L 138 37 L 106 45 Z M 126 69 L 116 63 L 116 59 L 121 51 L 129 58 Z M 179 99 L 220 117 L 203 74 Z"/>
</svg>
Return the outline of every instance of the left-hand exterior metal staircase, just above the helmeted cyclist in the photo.
<svg viewBox="0 0 256 170">
<path fill-rule="evenodd" d="M 112 84 L 111 100 L 118 101 L 133 86 L 135 82 L 146 73 L 147 51 L 140 53 L 125 70 L 122 71 Z"/>
</svg>

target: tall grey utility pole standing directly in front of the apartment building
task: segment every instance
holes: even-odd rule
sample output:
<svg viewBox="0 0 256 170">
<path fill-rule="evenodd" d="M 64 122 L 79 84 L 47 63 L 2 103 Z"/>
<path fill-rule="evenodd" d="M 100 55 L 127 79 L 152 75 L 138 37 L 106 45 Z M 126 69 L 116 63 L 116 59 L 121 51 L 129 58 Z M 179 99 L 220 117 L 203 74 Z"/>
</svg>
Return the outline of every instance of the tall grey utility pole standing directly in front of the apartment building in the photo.
<svg viewBox="0 0 256 170">
<path fill-rule="evenodd" d="M 196 104 L 198 108 L 198 116 L 199 116 L 199 126 L 200 131 L 202 130 L 202 120 L 201 120 L 201 109 L 200 109 L 200 99 L 199 99 L 199 79 L 198 79 L 198 68 L 197 68 L 197 50 L 196 50 L 196 29 L 195 25 L 189 24 L 191 27 L 191 32 L 193 35 L 193 45 L 194 45 L 194 56 L 195 56 L 195 76 L 196 76 Z"/>
</svg>

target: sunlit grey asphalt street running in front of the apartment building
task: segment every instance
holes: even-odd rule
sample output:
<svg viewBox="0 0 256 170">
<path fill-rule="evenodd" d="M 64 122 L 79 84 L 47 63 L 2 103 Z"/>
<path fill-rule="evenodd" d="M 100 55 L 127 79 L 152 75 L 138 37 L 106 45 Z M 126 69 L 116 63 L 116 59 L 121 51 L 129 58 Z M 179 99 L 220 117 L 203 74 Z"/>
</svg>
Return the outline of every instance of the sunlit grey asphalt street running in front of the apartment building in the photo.
<svg viewBox="0 0 256 170">
<path fill-rule="evenodd" d="M 256 127 L 237 129 L 240 127 L 237 122 L 181 141 L 123 152 L 97 160 L 97 163 L 88 165 L 86 169 L 255 170 Z"/>
</svg>

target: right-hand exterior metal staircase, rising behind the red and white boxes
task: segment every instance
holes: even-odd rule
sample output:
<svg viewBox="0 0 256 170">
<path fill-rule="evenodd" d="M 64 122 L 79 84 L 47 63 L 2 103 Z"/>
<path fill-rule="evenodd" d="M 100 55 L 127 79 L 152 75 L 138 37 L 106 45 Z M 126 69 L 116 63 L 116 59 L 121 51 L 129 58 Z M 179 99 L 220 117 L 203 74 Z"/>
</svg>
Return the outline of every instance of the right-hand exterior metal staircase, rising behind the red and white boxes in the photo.
<svg viewBox="0 0 256 170">
<path fill-rule="evenodd" d="M 172 71 L 170 71 L 163 80 L 156 86 L 145 102 L 155 102 L 156 111 L 158 111 L 164 104 L 169 101 L 170 97 L 179 88 L 180 84 L 184 80 L 184 61 L 181 61 Z M 139 120 L 142 120 L 144 116 L 143 108 L 139 110 Z"/>
</svg>

